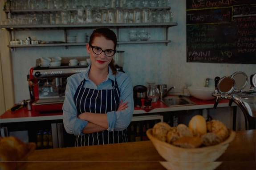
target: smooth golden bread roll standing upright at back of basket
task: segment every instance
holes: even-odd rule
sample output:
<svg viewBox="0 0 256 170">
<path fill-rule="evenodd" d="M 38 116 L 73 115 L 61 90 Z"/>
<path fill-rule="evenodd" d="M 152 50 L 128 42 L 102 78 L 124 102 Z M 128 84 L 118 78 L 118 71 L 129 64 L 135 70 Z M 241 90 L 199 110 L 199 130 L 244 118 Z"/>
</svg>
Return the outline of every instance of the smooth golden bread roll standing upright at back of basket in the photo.
<svg viewBox="0 0 256 170">
<path fill-rule="evenodd" d="M 189 121 L 188 128 L 194 136 L 202 136 L 207 133 L 206 121 L 201 115 L 193 116 Z"/>
</svg>

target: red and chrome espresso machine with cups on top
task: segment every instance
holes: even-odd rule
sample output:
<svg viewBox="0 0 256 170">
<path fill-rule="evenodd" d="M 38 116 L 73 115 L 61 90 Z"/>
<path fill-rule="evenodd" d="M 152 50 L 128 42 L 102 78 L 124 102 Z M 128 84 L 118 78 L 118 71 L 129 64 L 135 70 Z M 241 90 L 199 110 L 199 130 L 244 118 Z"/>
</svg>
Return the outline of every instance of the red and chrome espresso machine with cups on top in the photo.
<svg viewBox="0 0 256 170">
<path fill-rule="evenodd" d="M 86 69 L 87 66 L 30 68 L 28 84 L 32 110 L 62 111 L 67 78 Z"/>
</svg>

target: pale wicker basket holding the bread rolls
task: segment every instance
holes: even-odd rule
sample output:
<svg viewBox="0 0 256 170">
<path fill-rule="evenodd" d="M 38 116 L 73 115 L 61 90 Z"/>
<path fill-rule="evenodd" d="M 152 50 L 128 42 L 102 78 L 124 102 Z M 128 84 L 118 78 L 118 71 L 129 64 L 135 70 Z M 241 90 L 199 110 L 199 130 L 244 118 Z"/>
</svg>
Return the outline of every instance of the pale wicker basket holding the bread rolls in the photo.
<svg viewBox="0 0 256 170">
<path fill-rule="evenodd" d="M 217 145 L 189 149 L 158 140 L 152 135 L 152 128 L 146 131 L 146 135 L 158 153 L 168 161 L 160 162 L 165 168 L 170 170 L 213 170 L 221 163 L 213 161 L 225 152 L 236 133 L 229 130 L 229 137 Z"/>
</svg>

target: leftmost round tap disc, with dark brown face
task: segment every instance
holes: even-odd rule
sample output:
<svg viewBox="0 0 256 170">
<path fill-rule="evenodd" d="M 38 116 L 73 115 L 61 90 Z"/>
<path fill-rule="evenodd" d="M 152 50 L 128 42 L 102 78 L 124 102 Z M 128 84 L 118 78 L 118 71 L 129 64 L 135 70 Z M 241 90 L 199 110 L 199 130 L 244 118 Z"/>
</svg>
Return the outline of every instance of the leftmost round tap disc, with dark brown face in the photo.
<svg viewBox="0 0 256 170">
<path fill-rule="evenodd" d="M 218 91 L 222 94 L 231 93 L 235 88 L 235 79 L 233 79 L 231 76 L 225 76 L 219 79 L 217 88 Z"/>
</svg>

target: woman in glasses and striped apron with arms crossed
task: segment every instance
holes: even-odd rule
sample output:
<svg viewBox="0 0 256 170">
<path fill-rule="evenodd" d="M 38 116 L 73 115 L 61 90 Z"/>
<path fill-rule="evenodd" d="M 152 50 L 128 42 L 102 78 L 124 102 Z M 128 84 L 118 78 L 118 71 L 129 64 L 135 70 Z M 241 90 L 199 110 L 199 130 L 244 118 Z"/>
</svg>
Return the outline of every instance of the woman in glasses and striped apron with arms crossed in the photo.
<svg viewBox="0 0 256 170">
<path fill-rule="evenodd" d="M 76 135 L 75 146 L 128 142 L 126 127 L 134 111 L 131 79 L 114 67 L 117 37 L 108 28 L 90 36 L 87 71 L 67 79 L 63 123 Z"/>
</svg>

